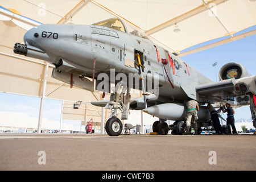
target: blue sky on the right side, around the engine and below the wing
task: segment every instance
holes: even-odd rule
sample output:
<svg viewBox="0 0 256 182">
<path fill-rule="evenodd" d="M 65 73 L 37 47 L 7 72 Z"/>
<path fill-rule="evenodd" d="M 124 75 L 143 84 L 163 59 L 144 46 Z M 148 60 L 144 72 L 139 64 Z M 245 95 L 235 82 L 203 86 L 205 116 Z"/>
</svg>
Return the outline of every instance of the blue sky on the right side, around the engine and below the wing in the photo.
<svg viewBox="0 0 256 182">
<path fill-rule="evenodd" d="M 253 26 L 241 32 L 237 32 L 234 34 L 234 36 L 255 29 L 256 26 Z M 220 38 L 218 40 L 222 39 L 225 38 Z M 199 47 L 212 42 L 213 41 L 202 43 L 199 45 Z M 216 74 L 218 79 L 218 71 L 224 64 L 229 62 L 240 63 L 251 75 L 256 75 L 256 35 L 206 49 L 204 51 L 196 52 L 191 55 L 183 56 L 181 59 L 187 64 L 191 65 L 193 68 L 197 69 L 197 71 L 203 73 L 203 75 L 207 76 L 212 81 L 217 81 Z M 216 65 L 216 72 L 215 68 L 212 67 L 212 64 L 215 62 L 218 62 Z M 241 118 L 249 119 L 251 121 L 249 106 L 243 106 L 236 109 L 235 119 Z"/>
</svg>

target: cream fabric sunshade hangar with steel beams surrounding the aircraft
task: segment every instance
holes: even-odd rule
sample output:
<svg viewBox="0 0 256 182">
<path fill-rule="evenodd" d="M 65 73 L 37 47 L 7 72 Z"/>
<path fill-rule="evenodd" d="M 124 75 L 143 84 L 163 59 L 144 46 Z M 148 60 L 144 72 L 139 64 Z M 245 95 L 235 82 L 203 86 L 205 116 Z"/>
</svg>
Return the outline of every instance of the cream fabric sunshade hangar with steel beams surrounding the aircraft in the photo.
<svg viewBox="0 0 256 182">
<path fill-rule="evenodd" d="M 129 26 L 144 31 L 164 48 L 184 56 L 256 34 L 253 30 L 233 36 L 256 24 L 255 9 L 254 0 L 4 1 L 0 7 L 0 92 L 40 97 L 38 126 L 42 125 L 45 98 L 64 101 L 63 119 L 88 121 L 86 115 L 90 115 L 94 121 L 104 122 L 108 115 L 106 110 L 89 104 L 90 101 L 102 100 L 102 93 L 88 92 L 75 86 L 71 88 L 69 84 L 51 77 L 54 65 L 13 53 L 13 44 L 23 42 L 27 30 L 42 23 L 92 24 L 118 17 Z M 225 39 L 183 51 L 221 37 Z M 72 109 L 69 103 L 76 101 L 87 103 L 85 109 Z"/>
</svg>

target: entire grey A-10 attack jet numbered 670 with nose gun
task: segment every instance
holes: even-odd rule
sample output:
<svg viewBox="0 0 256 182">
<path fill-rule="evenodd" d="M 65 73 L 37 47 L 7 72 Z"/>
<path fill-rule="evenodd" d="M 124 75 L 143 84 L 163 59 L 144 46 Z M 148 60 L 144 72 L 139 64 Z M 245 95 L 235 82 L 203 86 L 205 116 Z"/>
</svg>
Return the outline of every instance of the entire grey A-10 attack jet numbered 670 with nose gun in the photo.
<svg viewBox="0 0 256 182">
<path fill-rule="evenodd" d="M 159 134 L 170 129 L 180 134 L 177 127 L 184 122 L 189 99 L 200 104 L 199 122 L 210 119 L 203 105 L 229 102 L 234 107 L 250 105 L 256 126 L 256 76 L 243 65 L 223 65 L 220 81 L 213 82 L 143 33 L 127 30 L 119 18 L 91 25 L 42 24 L 26 32 L 24 43 L 16 43 L 14 52 L 54 64 L 53 78 L 92 92 L 112 93 L 108 101 L 92 102 L 112 110 L 105 125 L 109 135 L 121 134 L 117 115 L 127 119 L 129 109 L 160 118 L 153 124 Z M 131 88 L 142 90 L 143 97 L 131 100 Z M 175 121 L 175 127 L 168 126 L 166 119 Z"/>
</svg>

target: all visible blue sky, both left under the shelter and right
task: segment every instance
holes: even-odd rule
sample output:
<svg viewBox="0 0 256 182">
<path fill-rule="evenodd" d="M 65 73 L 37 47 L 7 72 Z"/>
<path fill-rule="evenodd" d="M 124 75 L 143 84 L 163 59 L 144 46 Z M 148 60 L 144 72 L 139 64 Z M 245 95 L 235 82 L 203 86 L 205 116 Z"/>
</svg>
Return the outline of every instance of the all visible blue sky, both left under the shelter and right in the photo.
<svg viewBox="0 0 256 182">
<path fill-rule="evenodd" d="M 251 28 L 247 28 L 244 32 L 255 29 L 256 26 L 253 26 Z M 242 32 L 239 32 L 238 34 L 241 33 Z M 212 42 L 213 41 L 203 43 L 200 44 L 200 46 Z M 256 35 L 193 53 L 191 55 L 183 56 L 181 59 L 213 81 L 216 81 L 216 74 L 218 75 L 218 71 L 222 65 L 229 62 L 241 63 L 245 66 L 247 71 L 251 73 L 251 75 L 256 75 Z M 216 61 L 217 65 L 215 71 L 215 68 L 212 67 L 212 64 Z M 53 121 L 60 121 L 61 106 L 61 101 L 46 99 L 44 102 L 43 118 L 47 118 L 48 120 Z M 29 117 L 39 117 L 39 109 L 39 97 L 0 93 L 0 111 L 27 113 Z M 241 118 L 250 120 L 251 114 L 249 106 L 243 106 L 239 109 L 236 109 L 235 119 Z M 80 126 L 79 121 L 72 122 L 74 126 Z"/>
</svg>

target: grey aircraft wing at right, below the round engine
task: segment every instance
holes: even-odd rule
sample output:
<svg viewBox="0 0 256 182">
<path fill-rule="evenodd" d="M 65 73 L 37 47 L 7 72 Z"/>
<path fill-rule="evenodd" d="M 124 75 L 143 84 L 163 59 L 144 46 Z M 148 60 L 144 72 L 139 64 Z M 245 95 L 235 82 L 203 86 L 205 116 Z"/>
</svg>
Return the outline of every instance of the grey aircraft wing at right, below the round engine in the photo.
<svg viewBox="0 0 256 182">
<path fill-rule="evenodd" d="M 256 76 L 228 79 L 196 86 L 196 92 L 205 98 L 234 101 L 234 97 L 256 94 Z M 237 101 L 239 102 L 239 101 Z M 238 103 L 249 104 L 248 102 Z"/>
</svg>

